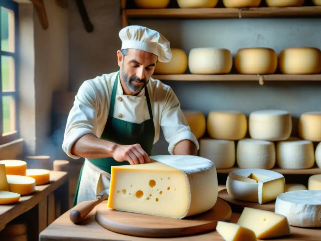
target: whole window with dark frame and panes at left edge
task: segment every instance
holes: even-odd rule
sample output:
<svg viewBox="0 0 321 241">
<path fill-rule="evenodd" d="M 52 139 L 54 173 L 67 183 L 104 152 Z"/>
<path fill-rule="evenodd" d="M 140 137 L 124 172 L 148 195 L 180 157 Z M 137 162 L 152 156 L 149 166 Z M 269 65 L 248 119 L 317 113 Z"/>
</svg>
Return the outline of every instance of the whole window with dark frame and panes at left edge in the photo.
<svg viewBox="0 0 321 241">
<path fill-rule="evenodd" d="M 0 1 L 0 144 L 19 137 L 18 3 Z"/>
</svg>

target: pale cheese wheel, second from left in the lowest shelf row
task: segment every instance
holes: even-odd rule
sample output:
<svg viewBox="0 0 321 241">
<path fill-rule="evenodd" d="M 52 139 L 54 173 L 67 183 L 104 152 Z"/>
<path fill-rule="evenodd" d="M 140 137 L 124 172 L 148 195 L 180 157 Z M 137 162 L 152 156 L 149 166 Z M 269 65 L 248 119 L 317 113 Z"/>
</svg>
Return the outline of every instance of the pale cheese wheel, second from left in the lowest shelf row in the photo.
<svg viewBox="0 0 321 241">
<path fill-rule="evenodd" d="M 236 148 L 239 168 L 271 169 L 275 165 L 275 147 L 271 141 L 239 140 Z"/>
</svg>

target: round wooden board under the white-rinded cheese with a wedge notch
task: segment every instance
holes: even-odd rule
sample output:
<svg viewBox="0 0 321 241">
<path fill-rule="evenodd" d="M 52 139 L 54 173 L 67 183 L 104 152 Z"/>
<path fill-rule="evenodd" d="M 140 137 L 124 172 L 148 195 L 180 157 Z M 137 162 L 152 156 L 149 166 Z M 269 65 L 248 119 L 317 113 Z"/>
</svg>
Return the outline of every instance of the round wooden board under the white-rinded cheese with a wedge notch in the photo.
<svg viewBox="0 0 321 241">
<path fill-rule="evenodd" d="M 221 190 L 218 192 L 218 197 L 227 201 L 230 205 L 236 205 L 238 207 L 248 207 L 248 208 L 256 208 L 262 210 L 268 210 L 274 212 L 275 201 L 271 201 L 265 204 L 259 204 L 257 202 L 246 202 L 234 199 L 230 196 L 226 189 Z"/>
</svg>

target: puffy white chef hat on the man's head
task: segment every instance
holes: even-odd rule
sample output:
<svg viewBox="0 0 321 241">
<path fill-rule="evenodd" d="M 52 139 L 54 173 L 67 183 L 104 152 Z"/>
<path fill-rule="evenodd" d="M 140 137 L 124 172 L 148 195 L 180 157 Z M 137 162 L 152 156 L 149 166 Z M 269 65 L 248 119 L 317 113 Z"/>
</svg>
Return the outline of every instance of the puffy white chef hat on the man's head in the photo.
<svg viewBox="0 0 321 241">
<path fill-rule="evenodd" d="M 160 62 L 169 62 L 172 52 L 169 41 L 159 32 L 143 27 L 130 25 L 119 31 L 122 41 L 121 49 L 139 49 L 158 56 Z"/>
</svg>

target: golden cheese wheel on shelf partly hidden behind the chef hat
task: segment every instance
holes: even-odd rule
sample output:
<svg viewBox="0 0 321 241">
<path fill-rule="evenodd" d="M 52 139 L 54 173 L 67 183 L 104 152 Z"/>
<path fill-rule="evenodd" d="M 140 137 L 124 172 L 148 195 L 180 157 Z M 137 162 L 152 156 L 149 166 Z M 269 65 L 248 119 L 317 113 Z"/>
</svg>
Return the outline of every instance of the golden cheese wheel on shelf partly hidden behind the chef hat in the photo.
<svg viewBox="0 0 321 241">
<path fill-rule="evenodd" d="M 158 62 L 154 74 L 179 75 L 187 70 L 187 55 L 182 49 L 171 49 L 172 58 L 169 62 Z"/>
</svg>

